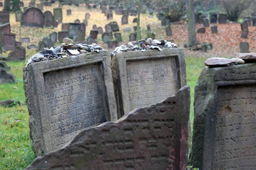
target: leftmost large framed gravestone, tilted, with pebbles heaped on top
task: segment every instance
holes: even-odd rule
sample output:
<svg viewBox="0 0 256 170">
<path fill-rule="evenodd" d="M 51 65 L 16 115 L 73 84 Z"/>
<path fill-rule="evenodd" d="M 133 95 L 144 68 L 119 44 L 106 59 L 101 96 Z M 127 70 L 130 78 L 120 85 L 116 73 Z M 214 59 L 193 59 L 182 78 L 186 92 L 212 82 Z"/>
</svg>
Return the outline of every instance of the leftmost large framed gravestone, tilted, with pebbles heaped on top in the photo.
<svg viewBox="0 0 256 170">
<path fill-rule="evenodd" d="M 117 120 L 108 55 L 104 50 L 24 67 L 30 138 L 37 156 L 60 149 L 81 130 Z"/>
</svg>

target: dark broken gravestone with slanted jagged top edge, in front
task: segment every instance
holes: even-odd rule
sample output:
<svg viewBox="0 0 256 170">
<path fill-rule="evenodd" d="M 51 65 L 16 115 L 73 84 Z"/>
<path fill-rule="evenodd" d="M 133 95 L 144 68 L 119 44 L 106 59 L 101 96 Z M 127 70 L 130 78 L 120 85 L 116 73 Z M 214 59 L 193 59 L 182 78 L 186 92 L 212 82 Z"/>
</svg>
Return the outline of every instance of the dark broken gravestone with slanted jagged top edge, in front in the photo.
<svg viewBox="0 0 256 170">
<path fill-rule="evenodd" d="M 26 170 L 186 170 L 189 87 L 118 121 L 80 132 L 68 145 L 38 157 Z"/>
</svg>

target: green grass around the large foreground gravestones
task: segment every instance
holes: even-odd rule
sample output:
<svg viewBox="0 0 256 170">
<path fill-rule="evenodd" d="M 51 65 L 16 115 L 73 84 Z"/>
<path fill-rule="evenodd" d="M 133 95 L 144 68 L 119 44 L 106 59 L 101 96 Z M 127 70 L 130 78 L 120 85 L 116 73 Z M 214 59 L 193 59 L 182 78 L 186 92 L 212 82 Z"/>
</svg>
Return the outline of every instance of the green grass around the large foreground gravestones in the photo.
<svg viewBox="0 0 256 170">
<path fill-rule="evenodd" d="M 32 56 L 35 51 L 28 51 Z M 204 58 L 186 57 L 187 84 L 191 88 L 191 114 L 193 120 L 194 87 L 204 67 Z M 17 84 L 0 85 L 0 100 L 15 99 L 25 103 L 22 68 L 26 62 L 7 62 Z M 24 169 L 35 159 L 29 137 L 29 115 L 26 105 L 0 106 L 0 170 Z M 193 121 L 191 121 L 193 127 Z M 191 148 L 191 136 L 189 138 Z"/>
</svg>

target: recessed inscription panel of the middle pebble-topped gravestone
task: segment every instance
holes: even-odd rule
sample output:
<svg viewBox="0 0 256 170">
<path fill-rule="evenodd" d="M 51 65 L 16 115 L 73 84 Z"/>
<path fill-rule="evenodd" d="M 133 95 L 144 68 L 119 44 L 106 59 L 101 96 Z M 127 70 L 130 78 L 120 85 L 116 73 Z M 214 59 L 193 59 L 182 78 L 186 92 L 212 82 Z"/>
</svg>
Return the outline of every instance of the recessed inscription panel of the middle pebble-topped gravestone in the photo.
<svg viewBox="0 0 256 170">
<path fill-rule="evenodd" d="M 130 109 L 149 106 L 178 90 L 176 57 L 127 61 Z"/>
</svg>

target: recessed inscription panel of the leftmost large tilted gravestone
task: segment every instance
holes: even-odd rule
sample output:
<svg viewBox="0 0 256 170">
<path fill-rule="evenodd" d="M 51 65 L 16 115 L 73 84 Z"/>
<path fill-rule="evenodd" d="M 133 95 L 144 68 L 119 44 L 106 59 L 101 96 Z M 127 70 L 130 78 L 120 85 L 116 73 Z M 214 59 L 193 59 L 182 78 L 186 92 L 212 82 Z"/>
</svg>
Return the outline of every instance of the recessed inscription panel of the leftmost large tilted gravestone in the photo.
<svg viewBox="0 0 256 170">
<path fill-rule="evenodd" d="M 80 130 L 106 121 L 100 67 L 91 64 L 43 74 L 54 149 Z"/>
</svg>

